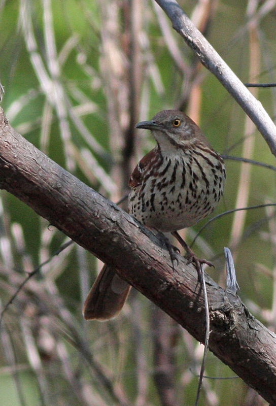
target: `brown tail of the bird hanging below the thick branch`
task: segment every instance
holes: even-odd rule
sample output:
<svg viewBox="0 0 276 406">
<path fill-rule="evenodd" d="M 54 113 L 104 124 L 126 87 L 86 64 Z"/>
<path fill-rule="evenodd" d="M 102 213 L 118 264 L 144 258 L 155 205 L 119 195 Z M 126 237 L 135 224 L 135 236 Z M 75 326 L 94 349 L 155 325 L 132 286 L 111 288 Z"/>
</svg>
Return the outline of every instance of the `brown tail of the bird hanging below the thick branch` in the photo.
<svg viewBox="0 0 276 406">
<path fill-rule="evenodd" d="M 85 300 L 84 318 L 113 319 L 124 306 L 129 290 L 130 285 L 116 275 L 114 268 L 105 264 Z"/>
</svg>

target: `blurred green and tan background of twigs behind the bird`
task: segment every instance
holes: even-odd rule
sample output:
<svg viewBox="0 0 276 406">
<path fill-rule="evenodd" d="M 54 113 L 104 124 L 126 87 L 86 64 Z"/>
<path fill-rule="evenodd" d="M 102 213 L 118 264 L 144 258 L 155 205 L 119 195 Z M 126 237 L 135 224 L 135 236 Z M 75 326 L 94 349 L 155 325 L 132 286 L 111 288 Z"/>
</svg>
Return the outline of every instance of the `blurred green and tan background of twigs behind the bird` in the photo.
<svg viewBox="0 0 276 406">
<path fill-rule="evenodd" d="M 275 82 L 276 0 L 181 0 L 180 5 L 243 82 Z M 146 0 L 2 0 L 2 107 L 28 141 L 113 201 L 154 145 L 134 124 L 182 109 L 226 155 L 224 197 L 214 215 L 275 202 L 274 157 L 245 113 L 196 60 L 162 10 Z M 272 118 L 274 88 L 253 89 Z M 227 158 L 228 156 L 228 158 Z M 101 266 L 12 195 L 1 191 L 0 406 L 193 405 L 203 346 L 131 291 L 119 317 L 84 321 L 84 298 Z M 202 221 L 185 230 L 192 242 Z M 225 284 L 223 247 L 235 260 L 239 295 L 276 325 L 273 206 L 226 214 L 193 246 Z M 129 264 L 131 271 L 131 264 Z M 232 377 L 209 354 L 205 375 Z M 201 405 L 264 405 L 240 379 L 205 379 Z"/>
</svg>

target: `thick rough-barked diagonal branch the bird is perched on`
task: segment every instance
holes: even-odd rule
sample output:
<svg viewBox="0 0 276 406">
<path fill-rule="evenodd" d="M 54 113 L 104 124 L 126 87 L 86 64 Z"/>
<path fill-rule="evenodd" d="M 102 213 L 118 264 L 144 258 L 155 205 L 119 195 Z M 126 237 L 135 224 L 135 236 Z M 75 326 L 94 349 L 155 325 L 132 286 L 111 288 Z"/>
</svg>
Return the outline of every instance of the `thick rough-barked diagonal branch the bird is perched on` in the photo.
<svg viewBox="0 0 276 406">
<path fill-rule="evenodd" d="M 27 142 L 0 108 L 0 187 L 24 201 L 204 342 L 204 302 L 192 265 L 149 230 Z M 276 405 L 276 336 L 208 275 L 210 350 Z M 81 306 L 81 305 L 80 305 Z"/>
</svg>

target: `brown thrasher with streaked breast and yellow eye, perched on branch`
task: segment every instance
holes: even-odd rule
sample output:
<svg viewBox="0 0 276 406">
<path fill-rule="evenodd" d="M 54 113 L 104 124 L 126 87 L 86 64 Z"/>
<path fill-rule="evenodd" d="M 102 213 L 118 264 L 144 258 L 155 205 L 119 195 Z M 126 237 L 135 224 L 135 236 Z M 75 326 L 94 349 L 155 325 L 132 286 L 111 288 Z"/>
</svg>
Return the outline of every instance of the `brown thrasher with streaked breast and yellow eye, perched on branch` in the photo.
<svg viewBox="0 0 276 406">
<path fill-rule="evenodd" d="M 186 114 L 163 110 L 136 128 L 147 128 L 157 145 L 135 167 L 129 180 L 129 213 L 149 228 L 172 232 L 212 213 L 225 182 L 223 159 Z M 185 244 L 187 256 L 198 260 Z M 83 307 L 85 319 L 109 320 L 122 309 L 130 285 L 104 265 Z"/>
</svg>

